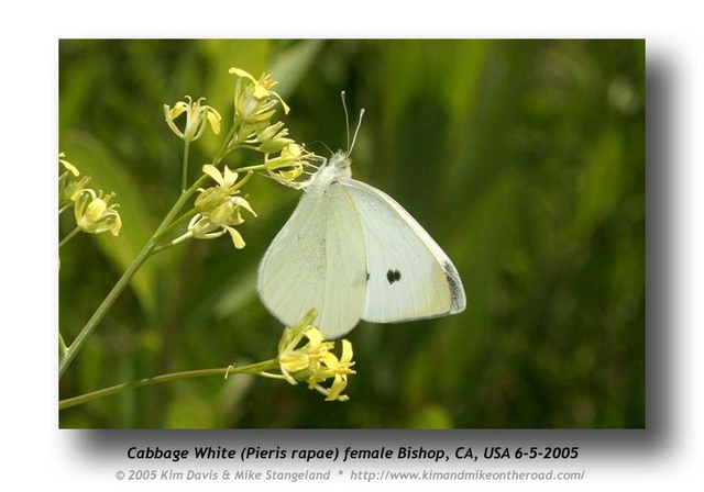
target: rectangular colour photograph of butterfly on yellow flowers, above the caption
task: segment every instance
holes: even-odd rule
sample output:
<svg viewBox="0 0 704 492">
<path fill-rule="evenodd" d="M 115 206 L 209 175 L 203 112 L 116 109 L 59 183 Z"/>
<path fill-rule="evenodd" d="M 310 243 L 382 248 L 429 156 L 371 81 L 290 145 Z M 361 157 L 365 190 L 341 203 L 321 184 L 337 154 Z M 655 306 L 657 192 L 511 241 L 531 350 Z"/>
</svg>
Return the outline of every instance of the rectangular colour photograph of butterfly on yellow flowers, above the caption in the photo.
<svg viewBox="0 0 704 492">
<path fill-rule="evenodd" d="M 646 429 L 645 38 L 57 48 L 59 429 Z"/>
</svg>

